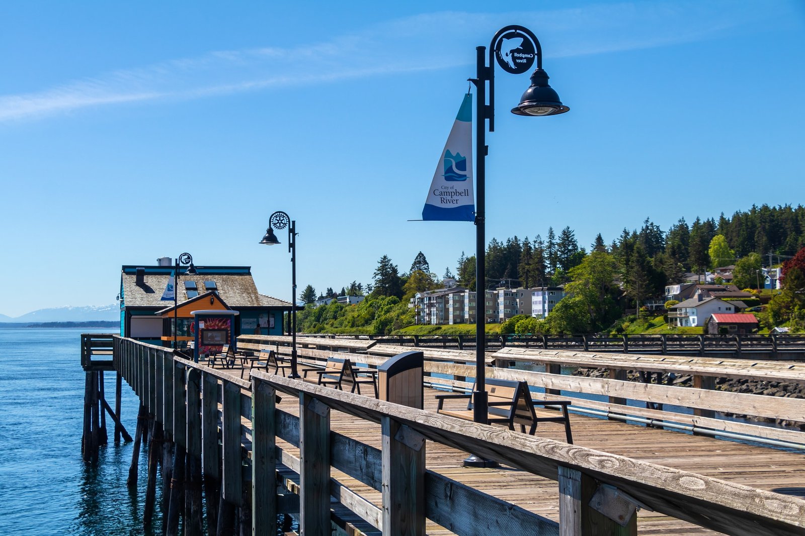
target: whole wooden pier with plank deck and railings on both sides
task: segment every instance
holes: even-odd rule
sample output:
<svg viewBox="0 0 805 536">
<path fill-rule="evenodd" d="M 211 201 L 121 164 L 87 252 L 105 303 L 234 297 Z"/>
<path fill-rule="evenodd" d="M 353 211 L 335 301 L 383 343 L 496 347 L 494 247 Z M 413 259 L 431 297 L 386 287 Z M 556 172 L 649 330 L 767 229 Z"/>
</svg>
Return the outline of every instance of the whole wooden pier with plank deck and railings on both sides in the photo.
<svg viewBox="0 0 805 536">
<path fill-rule="evenodd" d="M 511 347 L 489 354 L 496 365 L 490 377 L 543 387 L 547 399 L 559 397 L 559 390 L 563 399 L 567 391 L 579 393 L 572 397 L 575 444 L 569 445 L 560 424 L 540 423 L 536 436 L 527 436 L 436 415 L 433 395 L 444 391 L 435 388 L 470 386 L 464 380 L 474 369 L 464 363 L 472 361 L 472 352 L 424 350 L 427 389 L 419 410 L 266 372 L 245 380 L 237 368 L 212 369 L 130 339 L 109 341 L 111 370 L 151 416 L 138 421 L 151 422 L 150 428 L 138 426 L 138 436 L 149 436 L 153 460 L 147 497 L 153 497 L 158 464 L 163 479 L 174 483 L 163 505 L 165 534 L 177 534 L 180 517 L 185 534 L 200 534 L 206 516 L 208 534 L 235 534 L 237 526 L 239 534 L 273 535 L 277 513 L 294 514 L 306 535 L 330 534 L 332 526 L 346 534 L 461 536 L 805 534 L 801 452 L 700 435 L 741 436 L 795 451 L 805 445 L 805 432 L 719 419 L 716 411 L 803 420 L 802 400 L 713 391 L 705 379 L 698 388 L 687 388 L 629 382 L 622 374 L 686 370 L 695 378 L 759 374 L 769 381 L 805 383 L 803 365 L 706 358 L 663 362 L 634 354 L 620 361 L 611 354 Z M 400 350 L 344 339 L 297 343 L 300 359 L 308 362 L 351 352 L 354 361 L 379 366 Z M 241 350 L 288 352 L 284 344 L 285 338 L 238 338 Z M 92 350 L 82 354 L 88 374 L 97 359 L 108 362 Z M 604 366 L 610 377 L 505 368 L 513 361 Z M 585 393 L 599 399 L 584 399 Z M 650 407 L 627 406 L 627 399 Z M 663 411 L 663 404 L 671 403 L 695 411 Z M 92 415 L 89 420 L 93 423 Z M 697 435 L 663 429 L 673 427 Z M 159 456 L 154 445 L 167 447 Z M 502 465 L 464 468 L 467 452 Z M 153 499 L 145 508 L 153 512 Z"/>
</svg>

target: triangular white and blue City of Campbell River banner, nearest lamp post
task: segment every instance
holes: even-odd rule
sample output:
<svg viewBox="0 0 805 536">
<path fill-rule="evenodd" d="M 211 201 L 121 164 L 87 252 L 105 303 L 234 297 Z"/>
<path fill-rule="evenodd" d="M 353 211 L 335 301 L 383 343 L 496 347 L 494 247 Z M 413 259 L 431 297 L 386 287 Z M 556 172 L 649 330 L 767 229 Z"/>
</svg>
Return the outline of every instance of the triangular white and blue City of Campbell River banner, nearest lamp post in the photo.
<svg viewBox="0 0 805 536">
<path fill-rule="evenodd" d="M 472 222 L 473 197 L 473 96 L 464 95 L 456 121 L 444 144 L 442 157 L 427 192 L 423 220 Z"/>
</svg>

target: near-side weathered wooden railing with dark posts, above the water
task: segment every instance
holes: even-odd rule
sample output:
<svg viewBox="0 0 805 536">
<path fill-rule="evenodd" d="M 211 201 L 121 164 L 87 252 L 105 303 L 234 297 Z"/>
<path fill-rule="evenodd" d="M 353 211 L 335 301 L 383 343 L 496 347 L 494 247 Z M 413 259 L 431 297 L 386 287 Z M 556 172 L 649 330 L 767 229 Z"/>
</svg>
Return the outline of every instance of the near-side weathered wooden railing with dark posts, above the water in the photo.
<svg viewBox="0 0 805 536">
<path fill-rule="evenodd" d="M 258 344 L 254 342 L 257 337 L 241 342 Z M 369 358 L 379 359 L 367 355 Z M 805 501 L 801 499 L 674 468 L 274 374 L 253 372 L 246 382 L 177 358 L 171 350 L 126 338 L 115 338 L 114 367 L 134 388 L 167 440 L 175 442 L 176 452 L 183 456 L 187 452 L 188 459 L 198 462 L 205 489 L 208 483 L 213 489 L 220 484 L 221 502 L 208 502 L 208 523 L 211 514 L 213 521 L 218 515 L 221 522 L 238 508 L 242 519 L 251 518 L 254 534 L 276 534 L 276 513 L 292 508 L 295 499 L 276 492 L 278 474 L 283 481 L 287 472 L 298 475 L 299 485 L 287 487 L 299 491 L 299 526 L 306 536 L 330 534 L 331 496 L 383 534 L 395 535 L 424 534 L 425 518 L 449 526 L 460 536 L 488 534 L 489 519 L 496 523 L 494 531 L 504 534 L 605 534 L 583 528 L 590 526 L 608 530 L 606 534 L 636 534 L 634 509 L 640 504 L 725 534 L 805 532 Z M 299 399 L 299 417 L 276 407 L 278 391 Z M 331 411 L 380 423 L 382 449 L 332 431 Z M 299 446 L 299 456 L 281 448 L 277 438 Z M 559 481 L 559 523 L 426 471 L 425 440 Z M 280 468 L 282 473 L 278 473 Z M 332 478 L 331 468 L 381 491 L 382 505 L 367 501 Z M 200 486 L 200 474 L 192 473 L 187 480 L 188 488 Z M 180 490 L 180 484 L 170 489 L 167 534 L 175 534 L 171 520 L 178 520 L 178 514 L 171 517 L 171 513 L 184 505 Z M 590 501 L 593 494 L 600 500 Z M 617 506 L 625 506 L 625 510 L 607 500 L 615 496 Z M 200 515 L 200 509 L 188 511 Z M 193 527 L 200 530 L 200 519 L 185 523 L 191 527 L 189 534 L 198 534 Z"/>
</svg>

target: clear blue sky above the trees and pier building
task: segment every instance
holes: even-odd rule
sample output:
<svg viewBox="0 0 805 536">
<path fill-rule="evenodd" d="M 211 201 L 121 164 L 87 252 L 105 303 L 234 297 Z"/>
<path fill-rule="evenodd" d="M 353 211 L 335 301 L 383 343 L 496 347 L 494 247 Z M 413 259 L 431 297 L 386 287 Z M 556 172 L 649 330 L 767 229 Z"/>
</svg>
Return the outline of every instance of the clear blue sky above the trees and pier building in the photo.
<svg viewBox="0 0 805 536">
<path fill-rule="evenodd" d="M 384 254 L 455 271 L 473 224 L 407 220 L 508 24 L 571 111 L 514 116 L 528 77 L 497 69 L 488 239 L 805 198 L 803 2 L 290 3 L 0 4 L 0 313 L 112 303 L 122 264 L 184 251 L 290 299 L 277 210 L 299 292 Z"/>
</svg>

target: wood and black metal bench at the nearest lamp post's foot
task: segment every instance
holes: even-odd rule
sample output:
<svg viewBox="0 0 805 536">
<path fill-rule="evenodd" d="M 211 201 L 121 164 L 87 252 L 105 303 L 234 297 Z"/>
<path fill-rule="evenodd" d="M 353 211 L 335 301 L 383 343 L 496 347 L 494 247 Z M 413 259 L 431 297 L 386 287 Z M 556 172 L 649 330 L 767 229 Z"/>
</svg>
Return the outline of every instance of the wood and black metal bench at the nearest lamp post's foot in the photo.
<svg viewBox="0 0 805 536">
<path fill-rule="evenodd" d="M 489 397 L 489 411 L 487 422 L 506 423 L 510 430 L 514 430 L 514 423 L 520 425 L 520 432 L 526 432 L 526 424 L 529 426 L 528 433 L 533 436 L 537 431 L 537 424 L 564 423 L 564 433 L 568 443 L 573 443 L 573 436 L 570 431 L 570 417 L 568 415 L 568 405 L 570 400 L 549 400 L 536 401 L 531 398 L 528 384 L 525 382 L 512 382 L 504 379 L 486 378 L 486 392 Z M 473 391 L 475 387 L 473 386 Z M 436 395 L 439 401 L 437 413 L 450 415 L 460 419 L 473 420 L 473 395 Z M 448 399 L 467 399 L 467 409 L 451 410 L 444 409 L 444 401 Z M 540 406 L 539 411 L 535 406 Z M 559 406 L 560 415 L 556 415 L 555 409 L 550 406 Z"/>
</svg>

